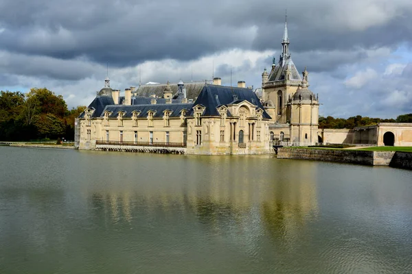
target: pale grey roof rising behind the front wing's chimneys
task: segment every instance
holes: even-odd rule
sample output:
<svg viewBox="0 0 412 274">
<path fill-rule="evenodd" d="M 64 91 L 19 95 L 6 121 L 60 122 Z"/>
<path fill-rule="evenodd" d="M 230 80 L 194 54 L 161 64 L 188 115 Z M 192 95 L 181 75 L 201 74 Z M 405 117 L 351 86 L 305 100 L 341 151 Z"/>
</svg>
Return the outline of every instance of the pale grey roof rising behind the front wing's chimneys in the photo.
<svg viewBox="0 0 412 274">
<path fill-rule="evenodd" d="M 163 90 L 165 90 L 167 84 L 152 84 L 152 85 L 141 85 L 137 88 L 136 95 L 137 97 L 150 97 L 150 95 L 156 95 L 156 97 L 163 97 Z M 186 97 L 187 99 L 196 99 L 201 90 L 205 86 L 205 82 L 188 82 L 185 83 L 186 88 Z M 172 88 L 173 97 L 177 97 L 177 84 L 170 84 Z"/>
</svg>

